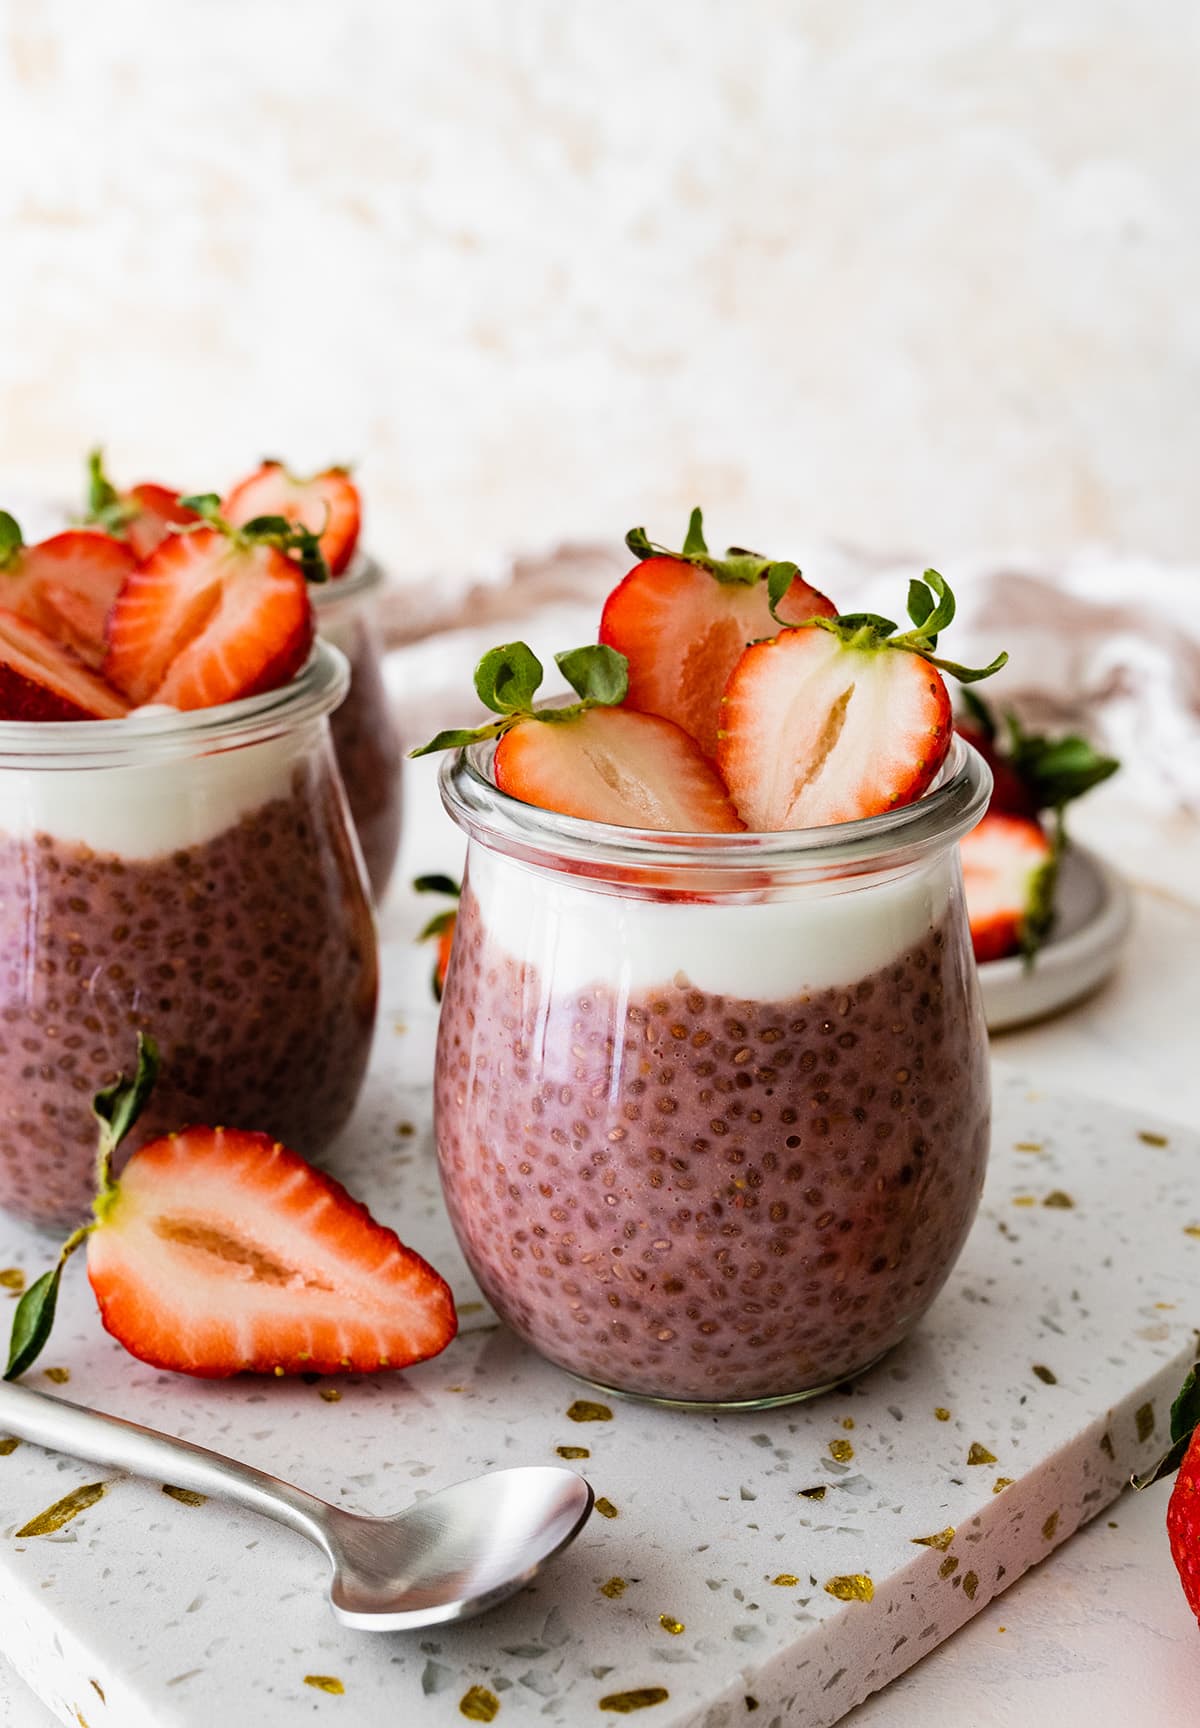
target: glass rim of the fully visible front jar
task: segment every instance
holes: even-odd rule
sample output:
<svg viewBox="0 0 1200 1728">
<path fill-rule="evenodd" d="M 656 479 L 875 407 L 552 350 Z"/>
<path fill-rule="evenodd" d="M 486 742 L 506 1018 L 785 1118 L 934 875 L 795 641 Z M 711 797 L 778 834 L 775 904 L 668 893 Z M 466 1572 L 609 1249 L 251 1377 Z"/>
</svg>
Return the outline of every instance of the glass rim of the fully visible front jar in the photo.
<svg viewBox="0 0 1200 1728">
<path fill-rule="evenodd" d="M 545 869 L 636 886 L 685 890 L 690 874 L 735 886 L 740 878 L 813 880 L 903 869 L 961 840 L 987 809 L 993 776 L 980 753 L 951 738 L 930 791 L 882 816 L 771 833 L 667 835 L 560 816 L 501 791 L 489 774 L 495 741 L 469 745 L 441 766 L 443 804 L 472 838 Z"/>
</svg>

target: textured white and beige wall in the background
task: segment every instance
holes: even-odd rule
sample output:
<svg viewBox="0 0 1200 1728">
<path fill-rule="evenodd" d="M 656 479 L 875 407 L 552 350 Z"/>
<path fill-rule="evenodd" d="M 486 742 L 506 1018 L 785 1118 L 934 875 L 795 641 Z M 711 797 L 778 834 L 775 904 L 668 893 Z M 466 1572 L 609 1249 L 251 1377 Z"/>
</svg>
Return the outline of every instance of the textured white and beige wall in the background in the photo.
<svg viewBox="0 0 1200 1728">
<path fill-rule="evenodd" d="M 1195 555 L 1193 0 L 7 0 L 0 477 Z"/>
</svg>

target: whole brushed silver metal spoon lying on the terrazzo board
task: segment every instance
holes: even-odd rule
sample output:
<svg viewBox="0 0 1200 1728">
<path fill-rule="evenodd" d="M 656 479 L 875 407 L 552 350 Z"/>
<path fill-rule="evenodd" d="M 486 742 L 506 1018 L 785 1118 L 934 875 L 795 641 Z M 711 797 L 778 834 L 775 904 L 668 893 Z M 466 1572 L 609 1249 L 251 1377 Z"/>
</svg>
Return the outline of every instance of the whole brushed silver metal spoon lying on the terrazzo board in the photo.
<svg viewBox="0 0 1200 1728">
<path fill-rule="evenodd" d="M 220 1452 L 7 1382 L 0 1433 L 297 1529 L 334 1567 L 334 1614 L 363 1631 L 413 1631 L 503 1602 L 574 1541 L 593 1500 L 574 1471 L 531 1464 L 455 1483 L 394 1517 L 363 1517 Z"/>
</svg>

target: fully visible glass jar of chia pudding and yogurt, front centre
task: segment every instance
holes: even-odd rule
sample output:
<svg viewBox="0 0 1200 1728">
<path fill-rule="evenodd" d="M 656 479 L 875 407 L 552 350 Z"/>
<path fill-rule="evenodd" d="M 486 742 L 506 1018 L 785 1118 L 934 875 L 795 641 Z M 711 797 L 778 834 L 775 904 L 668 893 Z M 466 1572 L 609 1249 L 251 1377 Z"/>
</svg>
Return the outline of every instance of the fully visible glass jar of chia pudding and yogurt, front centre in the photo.
<svg viewBox="0 0 1200 1728">
<path fill-rule="evenodd" d="M 458 1241 L 605 1391 L 757 1407 L 861 1374 L 937 1296 L 987 1161 L 958 840 L 991 776 L 801 833 L 667 836 L 443 769 L 467 880 L 436 1132 Z"/>
</svg>

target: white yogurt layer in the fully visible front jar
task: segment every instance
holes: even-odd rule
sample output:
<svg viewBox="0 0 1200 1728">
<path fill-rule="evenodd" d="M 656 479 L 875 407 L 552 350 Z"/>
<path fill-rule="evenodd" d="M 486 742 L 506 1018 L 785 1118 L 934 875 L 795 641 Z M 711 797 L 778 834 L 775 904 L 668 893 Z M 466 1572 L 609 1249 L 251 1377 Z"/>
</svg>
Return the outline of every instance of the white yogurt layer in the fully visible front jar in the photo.
<svg viewBox="0 0 1200 1728">
<path fill-rule="evenodd" d="M 858 983 L 922 942 L 946 914 L 954 861 L 740 905 L 598 893 L 481 845 L 469 873 L 488 937 L 555 990 L 641 992 L 685 975 L 714 995 L 780 1001 Z"/>
</svg>

